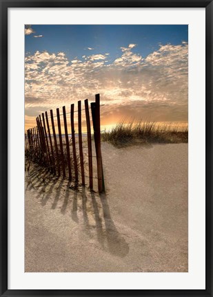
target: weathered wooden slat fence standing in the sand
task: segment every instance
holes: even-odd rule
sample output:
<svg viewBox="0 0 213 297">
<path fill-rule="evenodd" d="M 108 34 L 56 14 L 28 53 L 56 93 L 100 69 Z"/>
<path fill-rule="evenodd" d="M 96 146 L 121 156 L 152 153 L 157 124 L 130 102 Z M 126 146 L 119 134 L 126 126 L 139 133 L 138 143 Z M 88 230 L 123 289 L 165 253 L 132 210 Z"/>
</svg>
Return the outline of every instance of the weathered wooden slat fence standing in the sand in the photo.
<svg viewBox="0 0 213 297">
<path fill-rule="evenodd" d="M 82 111 L 85 111 L 87 150 L 83 151 L 82 140 Z M 78 133 L 74 129 L 74 113 L 77 112 Z M 90 112 L 92 117 L 90 117 Z M 63 120 L 61 121 L 61 115 Z M 68 116 L 70 115 L 69 119 Z M 57 123 L 54 118 L 57 117 Z M 92 154 L 92 133 L 90 126 L 92 118 L 92 127 L 94 131 L 95 156 Z M 57 108 L 57 114 L 54 115 L 52 109 L 50 114 L 47 111 L 36 118 L 37 126 L 26 131 L 26 150 L 32 154 L 34 160 L 45 166 L 53 175 L 67 177 L 73 181 L 76 186 L 82 184 L 85 186 L 85 177 L 89 178 L 90 189 L 93 189 L 93 180 L 98 179 L 99 192 L 105 191 L 103 179 L 103 165 L 101 157 L 101 124 L 100 124 L 100 95 L 95 96 L 95 102 L 88 104 L 88 99 L 84 100 L 84 109 L 81 106 L 81 100 L 78 101 L 77 110 L 74 110 L 74 104 L 70 105 L 70 111 L 65 107 Z M 62 124 L 61 124 L 62 122 Z M 68 124 L 70 122 L 70 125 Z M 61 128 L 63 128 L 63 132 Z M 56 133 L 56 129 L 58 133 Z M 70 130 L 70 134 L 69 134 Z M 69 137 L 71 135 L 71 137 Z M 63 141 L 65 138 L 65 141 Z M 78 144 L 78 145 L 77 145 Z M 77 147 L 78 146 L 78 147 Z M 71 148 L 71 150 L 70 150 Z M 94 159 L 97 162 L 97 177 L 94 177 Z M 87 160 L 86 160 L 87 159 Z M 87 162 L 85 162 L 87 161 Z M 85 175 L 88 172 L 88 176 Z"/>
</svg>

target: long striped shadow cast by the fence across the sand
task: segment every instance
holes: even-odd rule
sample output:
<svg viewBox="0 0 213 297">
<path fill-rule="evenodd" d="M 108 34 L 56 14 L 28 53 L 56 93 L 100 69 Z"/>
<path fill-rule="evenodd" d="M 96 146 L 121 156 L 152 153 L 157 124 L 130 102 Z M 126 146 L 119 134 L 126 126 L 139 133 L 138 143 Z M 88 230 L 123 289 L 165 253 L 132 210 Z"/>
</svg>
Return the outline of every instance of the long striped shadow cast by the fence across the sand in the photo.
<svg viewBox="0 0 213 297">
<path fill-rule="evenodd" d="M 26 188 L 37 188 L 41 206 L 69 215 L 80 232 L 85 232 L 92 242 L 99 242 L 103 250 L 121 258 L 128 254 L 128 243 L 114 224 L 105 193 L 98 194 L 86 186 L 76 190 L 67 179 L 37 175 L 37 170 L 28 174 Z"/>
</svg>

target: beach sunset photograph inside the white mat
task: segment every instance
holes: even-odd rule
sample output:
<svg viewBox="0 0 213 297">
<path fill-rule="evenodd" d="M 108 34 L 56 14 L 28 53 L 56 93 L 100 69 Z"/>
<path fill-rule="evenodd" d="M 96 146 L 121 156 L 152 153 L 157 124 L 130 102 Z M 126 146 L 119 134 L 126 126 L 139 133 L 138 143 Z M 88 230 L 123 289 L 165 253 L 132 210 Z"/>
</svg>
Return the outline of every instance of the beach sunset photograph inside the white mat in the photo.
<svg viewBox="0 0 213 297">
<path fill-rule="evenodd" d="M 188 25 L 23 36 L 24 272 L 188 272 Z"/>
</svg>

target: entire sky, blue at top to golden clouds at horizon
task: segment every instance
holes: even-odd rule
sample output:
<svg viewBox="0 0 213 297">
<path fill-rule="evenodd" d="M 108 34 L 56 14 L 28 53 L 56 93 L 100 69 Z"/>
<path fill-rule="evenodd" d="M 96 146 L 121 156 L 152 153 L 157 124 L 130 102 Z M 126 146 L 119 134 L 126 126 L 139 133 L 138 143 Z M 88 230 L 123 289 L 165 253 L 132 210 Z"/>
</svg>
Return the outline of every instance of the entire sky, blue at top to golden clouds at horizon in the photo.
<svg viewBox="0 0 213 297">
<path fill-rule="evenodd" d="M 187 41 L 187 25 L 26 25 L 26 129 L 95 94 L 102 126 L 187 122 Z"/>
</svg>

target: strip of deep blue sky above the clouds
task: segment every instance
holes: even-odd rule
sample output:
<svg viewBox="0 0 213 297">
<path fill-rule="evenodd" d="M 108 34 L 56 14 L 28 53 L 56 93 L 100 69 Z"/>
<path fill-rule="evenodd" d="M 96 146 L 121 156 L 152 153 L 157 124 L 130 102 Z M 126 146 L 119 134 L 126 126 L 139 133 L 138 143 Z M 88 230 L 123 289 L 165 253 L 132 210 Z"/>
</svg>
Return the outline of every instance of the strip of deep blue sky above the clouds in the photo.
<svg viewBox="0 0 213 297">
<path fill-rule="evenodd" d="M 158 50 L 159 43 L 179 45 L 187 42 L 187 25 L 32 25 L 35 34 L 26 35 L 26 53 L 64 52 L 68 58 L 110 53 L 117 58 L 120 47 L 136 43 L 135 52 L 143 57 Z M 42 35 L 34 38 L 34 35 Z"/>
</svg>

